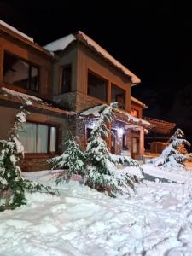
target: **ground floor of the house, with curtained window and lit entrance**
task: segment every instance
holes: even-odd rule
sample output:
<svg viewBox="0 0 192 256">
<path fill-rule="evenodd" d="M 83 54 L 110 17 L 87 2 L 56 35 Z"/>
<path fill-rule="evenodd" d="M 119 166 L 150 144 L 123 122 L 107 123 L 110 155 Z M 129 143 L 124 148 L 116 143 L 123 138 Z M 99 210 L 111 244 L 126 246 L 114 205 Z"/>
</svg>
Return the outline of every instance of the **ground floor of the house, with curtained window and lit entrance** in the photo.
<svg viewBox="0 0 192 256">
<path fill-rule="evenodd" d="M 6 95 L 0 94 L 0 140 L 9 137 L 9 131 L 14 126 L 16 114 L 25 102 L 25 108 L 30 113 L 26 123 L 17 131 L 25 148 L 25 157 L 20 160 L 23 172 L 49 169 L 48 160 L 63 152 L 63 142 L 67 131 L 76 137 L 84 150 L 90 138 L 90 132 L 96 124 L 96 118 L 82 118 L 80 114 L 55 108 L 42 100 L 6 90 Z M 115 113 L 112 124 L 108 128 L 112 134 L 108 139 L 108 148 L 113 154 L 130 155 L 143 161 L 144 133 L 147 123 L 131 118 L 128 113 Z"/>
</svg>

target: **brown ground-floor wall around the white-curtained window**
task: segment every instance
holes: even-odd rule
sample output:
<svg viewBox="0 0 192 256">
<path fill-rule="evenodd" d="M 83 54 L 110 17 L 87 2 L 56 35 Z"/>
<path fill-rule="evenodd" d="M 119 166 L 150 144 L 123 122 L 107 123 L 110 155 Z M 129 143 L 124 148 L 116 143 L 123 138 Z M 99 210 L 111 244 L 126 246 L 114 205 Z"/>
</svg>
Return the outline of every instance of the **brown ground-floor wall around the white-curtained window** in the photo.
<svg viewBox="0 0 192 256">
<path fill-rule="evenodd" d="M 9 108 L 0 105 L 0 119 L 3 119 L 3 125 L 0 125 L 0 140 L 9 137 L 9 131 L 15 122 L 15 115 L 19 108 Z M 58 128 L 58 154 L 62 151 L 63 137 L 66 136 L 69 120 L 43 113 L 33 113 L 27 117 L 28 121 L 35 121 L 44 124 L 57 125 Z M 25 154 L 25 158 L 20 160 L 20 168 L 23 172 L 32 172 L 48 170 L 50 168 L 47 160 L 53 157 L 51 154 Z"/>
</svg>

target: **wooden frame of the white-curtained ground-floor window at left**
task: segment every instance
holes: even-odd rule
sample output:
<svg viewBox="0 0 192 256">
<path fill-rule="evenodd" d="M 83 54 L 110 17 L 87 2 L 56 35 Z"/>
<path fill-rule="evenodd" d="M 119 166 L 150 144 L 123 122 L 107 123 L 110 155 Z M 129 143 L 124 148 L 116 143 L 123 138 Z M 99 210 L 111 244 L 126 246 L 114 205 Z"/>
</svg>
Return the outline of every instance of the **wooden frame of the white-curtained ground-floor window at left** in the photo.
<svg viewBox="0 0 192 256">
<path fill-rule="evenodd" d="M 35 125 L 46 125 L 48 126 L 48 143 L 47 143 L 47 153 L 34 153 L 34 152 L 27 152 L 26 155 L 55 155 L 59 152 L 59 125 L 58 124 L 51 124 L 51 123 L 43 123 L 33 120 L 26 120 L 26 123 L 35 124 Z M 50 149 L 50 128 L 55 127 L 56 129 L 56 138 L 55 138 L 55 152 L 51 152 Z M 25 148 L 24 148 L 25 149 Z"/>
</svg>

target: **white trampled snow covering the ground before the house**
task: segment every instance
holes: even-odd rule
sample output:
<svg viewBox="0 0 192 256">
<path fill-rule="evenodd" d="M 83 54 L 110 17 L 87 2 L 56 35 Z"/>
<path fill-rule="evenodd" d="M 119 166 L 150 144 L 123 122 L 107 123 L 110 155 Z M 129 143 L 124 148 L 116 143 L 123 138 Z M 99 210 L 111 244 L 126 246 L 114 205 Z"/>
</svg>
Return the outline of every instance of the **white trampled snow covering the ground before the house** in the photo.
<svg viewBox="0 0 192 256">
<path fill-rule="evenodd" d="M 27 206 L 0 212 L 0 255 L 192 255 L 192 173 L 143 169 L 177 183 L 145 181 L 130 200 L 74 181 L 59 197 L 27 195 Z M 53 184 L 55 172 L 27 177 Z"/>
</svg>

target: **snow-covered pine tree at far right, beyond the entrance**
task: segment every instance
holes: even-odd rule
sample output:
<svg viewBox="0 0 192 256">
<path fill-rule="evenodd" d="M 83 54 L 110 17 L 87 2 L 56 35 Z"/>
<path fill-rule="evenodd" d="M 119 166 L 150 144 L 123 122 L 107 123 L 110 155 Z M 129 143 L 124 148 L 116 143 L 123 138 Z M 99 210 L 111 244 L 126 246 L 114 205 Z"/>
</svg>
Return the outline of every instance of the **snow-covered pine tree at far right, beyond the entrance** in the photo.
<svg viewBox="0 0 192 256">
<path fill-rule="evenodd" d="M 162 167 L 182 167 L 185 160 L 191 160 L 192 154 L 188 154 L 184 146 L 189 146 L 190 143 L 184 138 L 184 133 L 181 129 L 177 129 L 174 135 L 169 139 L 169 145 L 163 150 L 159 157 L 148 160 L 148 163 L 154 166 Z M 184 150 L 185 149 L 185 150 Z M 183 154 L 183 152 L 187 154 Z"/>
</svg>

